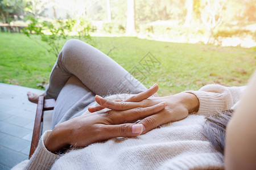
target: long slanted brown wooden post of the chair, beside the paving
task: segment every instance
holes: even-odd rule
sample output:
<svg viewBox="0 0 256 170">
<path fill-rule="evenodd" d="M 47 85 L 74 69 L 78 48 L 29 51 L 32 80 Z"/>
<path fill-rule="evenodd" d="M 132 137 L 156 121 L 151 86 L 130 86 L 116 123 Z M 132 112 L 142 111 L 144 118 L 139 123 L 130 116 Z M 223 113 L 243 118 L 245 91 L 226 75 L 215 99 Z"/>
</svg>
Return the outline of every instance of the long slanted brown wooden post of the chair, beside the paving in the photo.
<svg viewBox="0 0 256 170">
<path fill-rule="evenodd" d="M 39 135 L 40 135 L 40 125 L 43 118 L 43 106 L 44 106 L 44 96 L 39 96 L 38 108 L 36 109 L 35 124 L 33 130 L 33 136 L 30 147 L 29 158 L 34 154 L 36 147 L 38 147 Z"/>
</svg>

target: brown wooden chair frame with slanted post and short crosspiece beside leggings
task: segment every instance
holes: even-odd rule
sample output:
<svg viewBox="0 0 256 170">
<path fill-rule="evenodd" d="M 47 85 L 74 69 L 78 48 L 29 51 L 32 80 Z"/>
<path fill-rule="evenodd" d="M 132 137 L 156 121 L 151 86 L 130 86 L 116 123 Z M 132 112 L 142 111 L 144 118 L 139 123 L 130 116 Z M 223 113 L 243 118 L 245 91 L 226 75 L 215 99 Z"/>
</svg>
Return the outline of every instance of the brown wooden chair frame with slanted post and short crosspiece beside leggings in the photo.
<svg viewBox="0 0 256 170">
<path fill-rule="evenodd" d="M 38 147 L 39 139 L 43 133 L 43 118 L 45 111 L 51 111 L 55 105 L 55 99 L 44 99 L 44 96 L 39 96 L 38 107 L 36 108 L 36 117 L 34 130 L 32 135 L 30 155 L 29 158 L 34 154 L 36 147 Z"/>
</svg>

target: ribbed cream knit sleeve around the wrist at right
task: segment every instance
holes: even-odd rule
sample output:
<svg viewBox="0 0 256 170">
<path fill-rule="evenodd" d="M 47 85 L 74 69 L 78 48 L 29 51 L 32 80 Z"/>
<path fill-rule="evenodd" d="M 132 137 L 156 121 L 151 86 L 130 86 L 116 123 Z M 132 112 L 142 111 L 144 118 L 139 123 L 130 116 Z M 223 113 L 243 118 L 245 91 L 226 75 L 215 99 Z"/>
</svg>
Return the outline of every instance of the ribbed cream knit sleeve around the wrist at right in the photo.
<svg viewBox="0 0 256 170">
<path fill-rule="evenodd" d="M 245 88 L 246 86 L 225 87 L 219 84 L 208 84 L 199 91 L 185 92 L 194 94 L 199 99 L 197 114 L 209 116 L 219 111 L 235 108 Z"/>
</svg>

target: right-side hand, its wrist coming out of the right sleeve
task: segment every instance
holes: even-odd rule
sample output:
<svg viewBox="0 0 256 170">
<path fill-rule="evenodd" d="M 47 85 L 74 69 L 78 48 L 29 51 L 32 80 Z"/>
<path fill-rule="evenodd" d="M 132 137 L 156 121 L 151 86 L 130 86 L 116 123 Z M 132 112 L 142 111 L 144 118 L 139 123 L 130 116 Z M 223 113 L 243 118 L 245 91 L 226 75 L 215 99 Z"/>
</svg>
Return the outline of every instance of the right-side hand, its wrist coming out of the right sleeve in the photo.
<svg viewBox="0 0 256 170">
<path fill-rule="evenodd" d="M 138 107 L 151 107 L 152 105 L 161 103 L 162 101 L 166 101 L 166 107 L 162 111 L 148 116 L 138 122 L 138 124 L 143 124 L 145 127 L 142 134 L 156 128 L 158 125 L 166 124 L 167 122 L 182 120 L 183 118 L 188 116 L 188 113 L 196 112 L 199 108 L 199 100 L 197 99 L 197 97 L 193 94 L 185 92 L 181 92 L 180 94 L 171 96 L 153 97 L 152 99 L 144 99 L 141 101 L 132 102 L 112 101 L 104 99 L 101 96 L 96 96 L 95 100 L 98 104 L 100 104 L 100 107 L 90 108 L 91 111 L 100 108 L 109 108 L 116 111 L 125 111 Z"/>
</svg>

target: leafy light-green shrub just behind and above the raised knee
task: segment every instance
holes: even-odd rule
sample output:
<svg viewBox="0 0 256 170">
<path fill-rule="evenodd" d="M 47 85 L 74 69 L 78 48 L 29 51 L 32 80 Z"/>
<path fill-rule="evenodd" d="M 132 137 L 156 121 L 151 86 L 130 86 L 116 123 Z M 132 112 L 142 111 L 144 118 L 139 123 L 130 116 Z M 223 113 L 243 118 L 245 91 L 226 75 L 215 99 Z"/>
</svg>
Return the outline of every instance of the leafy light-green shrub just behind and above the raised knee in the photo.
<svg viewBox="0 0 256 170">
<path fill-rule="evenodd" d="M 34 16 L 28 16 L 28 19 L 31 23 L 28 24 L 28 27 L 24 28 L 24 33 L 30 37 L 31 40 L 36 42 L 38 42 L 37 39 L 34 39 L 34 36 L 32 36 L 30 32 L 39 35 L 42 41 L 47 42 L 49 49 L 40 44 L 40 42 L 38 42 L 38 44 L 46 48 L 48 52 L 55 54 L 56 57 L 60 53 L 64 42 L 72 38 L 72 32 L 76 32 L 76 39 L 85 42 L 91 40 L 90 32 L 93 28 L 89 20 L 85 18 L 55 19 L 51 22 L 39 20 L 34 18 Z"/>
</svg>

